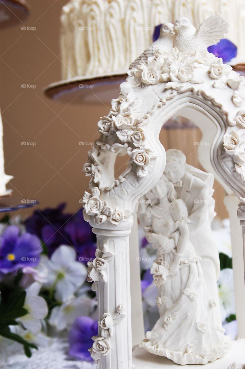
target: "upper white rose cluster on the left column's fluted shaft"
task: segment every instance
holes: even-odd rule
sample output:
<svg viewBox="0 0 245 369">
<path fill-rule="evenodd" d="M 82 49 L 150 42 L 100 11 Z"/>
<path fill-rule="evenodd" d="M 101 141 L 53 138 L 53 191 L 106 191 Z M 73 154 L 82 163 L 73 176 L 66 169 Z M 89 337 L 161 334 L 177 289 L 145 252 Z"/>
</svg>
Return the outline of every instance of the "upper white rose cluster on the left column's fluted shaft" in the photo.
<svg viewBox="0 0 245 369">
<path fill-rule="evenodd" d="M 103 245 L 102 250 L 95 251 L 95 259 L 88 262 L 88 282 L 93 282 L 92 290 L 96 291 L 99 280 L 107 282 L 106 266 L 114 254 L 108 251 L 108 246 Z"/>
</svg>

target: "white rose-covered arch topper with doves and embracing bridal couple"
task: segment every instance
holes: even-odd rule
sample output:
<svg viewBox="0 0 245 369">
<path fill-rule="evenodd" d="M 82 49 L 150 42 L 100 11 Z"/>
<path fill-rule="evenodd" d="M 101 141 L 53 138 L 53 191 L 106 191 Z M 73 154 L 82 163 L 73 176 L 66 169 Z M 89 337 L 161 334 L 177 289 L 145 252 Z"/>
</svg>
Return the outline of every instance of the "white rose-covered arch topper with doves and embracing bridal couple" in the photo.
<svg viewBox="0 0 245 369">
<path fill-rule="evenodd" d="M 159 287 L 160 320 L 143 346 L 180 364 L 213 361 L 229 349 L 220 322 L 219 260 L 210 227 L 213 175 L 188 166 L 178 150 L 166 153 L 159 132 L 177 112 L 195 120 L 203 134 L 208 131 L 209 145 L 199 146 L 199 152 L 205 150 L 204 168 L 209 162 L 220 182 L 241 197 L 238 216 L 244 221 L 245 78 L 195 46 L 200 35 L 200 45 L 205 47 L 222 36 L 226 25 L 219 15 L 207 20 L 206 38 L 202 30 L 188 39 L 186 31 L 180 32 L 182 23 L 178 20 L 174 30 L 182 35 L 179 47 L 187 50 L 176 48 L 178 35 L 171 45 L 173 28 L 165 24 L 162 38 L 170 39 L 171 47 L 162 51 L 161 42 L 153 45 L 128 71 L 109 114 L 98 122 L 100 136 L 84 165 L 86 176 L 91 177 L 91 193 L 83 197 L 84 219 L 98 235 L 97 254 L 105 254 L 88 268 L 92 288 L 99 292 L 99 321 L 123 305 L 123 320 L 113 324 L 113 335 L 103 336 L 102 322 L 98 337 L 93 338 L 91 354 L 99 369 L 132 366 L 128 237 L 132 214 L 144 194 L 151 203 L 139 218 L 158 249 L 152 272 Z M 168 35 L 163 37 L 164 33 Z M 115 177 L 118 154 L 128 155 L 128 165 Z M 113 254 L 108 261 L 105 244 L 106 253 Z M 110 329 L 112 322 L 107 320 Z"/>
</svg>

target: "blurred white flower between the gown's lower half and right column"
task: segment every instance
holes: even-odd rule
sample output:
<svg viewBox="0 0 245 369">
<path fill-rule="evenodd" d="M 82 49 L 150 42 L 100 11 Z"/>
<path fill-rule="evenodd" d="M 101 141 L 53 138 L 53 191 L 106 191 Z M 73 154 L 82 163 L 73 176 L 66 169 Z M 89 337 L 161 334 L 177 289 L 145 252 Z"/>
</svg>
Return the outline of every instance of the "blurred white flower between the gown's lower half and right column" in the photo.
<svg viewBox="0 0 245 369">
<path fill-rule="evenodd" d="M 235 295 L 233 270 L 226 268 L 221 270 L 218 279 L 218 295 L 220 298 L 220 309 L 222 321 L 225 321 L 231 314 L 235 314 Z"/>
</svg>

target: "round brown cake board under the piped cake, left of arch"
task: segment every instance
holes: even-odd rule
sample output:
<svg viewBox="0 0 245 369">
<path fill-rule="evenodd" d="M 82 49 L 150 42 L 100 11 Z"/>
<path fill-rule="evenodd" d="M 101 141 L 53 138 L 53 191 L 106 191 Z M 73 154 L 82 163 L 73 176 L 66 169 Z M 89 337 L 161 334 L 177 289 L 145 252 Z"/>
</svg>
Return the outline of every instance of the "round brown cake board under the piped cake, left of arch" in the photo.
<svg viewBox="0 0 245 369">
<path fill-rule="evenodd" d="M 127 78 L 125 72 L 108 76 L 76 77 L 52 83 L 44 90 L 50 99 L 61 103 L 108 103 L 118 96 L 119 85 Z"/>
</svg>

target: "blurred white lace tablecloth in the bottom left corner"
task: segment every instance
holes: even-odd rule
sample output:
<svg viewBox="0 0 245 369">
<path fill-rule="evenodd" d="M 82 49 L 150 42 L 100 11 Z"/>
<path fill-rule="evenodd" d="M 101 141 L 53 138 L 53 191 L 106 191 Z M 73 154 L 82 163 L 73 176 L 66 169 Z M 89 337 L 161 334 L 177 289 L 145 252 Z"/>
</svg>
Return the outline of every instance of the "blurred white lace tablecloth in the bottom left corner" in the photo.
<svg viewBox="0 0 245 369">
<path fill-rule="evenodd" d="M 46 348 L 34 350 L 32 357 L 23 354 L 10 355 L 7 363 L 0 368 L 4 369 L 95 369 L 94 363 L 76 361 L 66 352 L 67 343 L 54 339 Z"/>
</svg>

